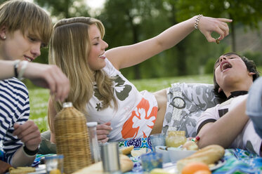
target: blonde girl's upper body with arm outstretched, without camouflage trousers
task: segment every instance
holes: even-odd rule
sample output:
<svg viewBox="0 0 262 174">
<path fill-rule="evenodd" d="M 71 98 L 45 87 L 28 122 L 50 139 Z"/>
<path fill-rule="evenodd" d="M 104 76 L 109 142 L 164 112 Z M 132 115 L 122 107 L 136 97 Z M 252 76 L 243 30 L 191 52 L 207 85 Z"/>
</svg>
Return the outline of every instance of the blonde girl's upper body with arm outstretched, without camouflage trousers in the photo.
<svg viewBox="0 0 262 174">
<path fill-rule="evenodd" d="M 87 121 L 97 121 L 102 142 L 145 138 L 160 133 L 166 113 L 166 89 L 157 93 L 139 92 L 119 69 L 137 65 L 178 44 L 196 28 L 210 42 L 211 32 L 228 35 L 231 20 L 197 15 L 173 25 L 161 34 L 130 46 L 108 51 L 103 41 L 105 29 L 94 18 L 60 20 L 51 37 L 49 62 L 58 65 L 70 79 L 67 101 L 83 112 Z M 61 106 L 49 100 L 51 142 L 55 142 L 53 119 Z"/>
</svg>

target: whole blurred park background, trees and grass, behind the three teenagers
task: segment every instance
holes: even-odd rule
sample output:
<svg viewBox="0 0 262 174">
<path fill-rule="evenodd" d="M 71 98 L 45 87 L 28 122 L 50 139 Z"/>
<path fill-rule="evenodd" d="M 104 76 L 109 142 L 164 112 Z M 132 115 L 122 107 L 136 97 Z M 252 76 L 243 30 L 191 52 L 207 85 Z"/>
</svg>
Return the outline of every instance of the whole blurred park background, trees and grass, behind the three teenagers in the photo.
<svg viewBox="0 0 262 174">
<path fill-rule="evenodd" d="M 228 24 L 230 34 L 220 44 L 209 43 L 195 30 L 175 47 L 140 65 L 121 69 L 139 91 L 154 92 L 176 82 L 213 83 L 214 62 L 226 52 L 245 55 L 262 72 L 261 0 L 105 0 L 103 4 L 100 0 L 97 4 L 95 0 L 34 0 L 34 3 L 47 11 L 53 22 L 75 16 L 98 18 L 105 25 L 108 49 L 150 39 L 194 15 L 233 20 Z M 218 34 L 212 36 L 218 38 Z M 41 49 L 35 62 L 48 63 L 48 48 Z M 30 91 L 30 119 L 36 121 L 41 132 L 46 131 L 48 90 L 27 80 L 25 83 Z"/>
</svg>

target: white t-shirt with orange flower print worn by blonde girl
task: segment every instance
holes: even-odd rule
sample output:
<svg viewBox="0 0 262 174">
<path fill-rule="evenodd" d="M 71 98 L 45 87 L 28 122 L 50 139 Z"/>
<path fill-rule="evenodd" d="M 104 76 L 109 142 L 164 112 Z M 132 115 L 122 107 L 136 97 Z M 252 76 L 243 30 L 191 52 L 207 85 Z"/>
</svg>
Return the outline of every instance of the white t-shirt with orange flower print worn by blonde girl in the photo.
<svg viewBox="0 0 262 174">
<path fill-rule="evenodd" d="M 107 107 L 101 109 L 96 86 L 89 103 L 86 105 L 89 116 L 87 121 L 98 123 L 111 122 L 112 131 L 108 135 L 110 141 L 122 141 L 133 138 L 146 138 L 150 135 L 157 119 L 157 100 L 148 91 L 139 92 L 121 72 L 105 59 L 103 70 L 114 79 L 114 97 L 117 99 L 118 109 Z M 96 97 L 97 96 L 97 97 Z M 114 103 L 112 102 L 112 105 Z"/>
</svg>

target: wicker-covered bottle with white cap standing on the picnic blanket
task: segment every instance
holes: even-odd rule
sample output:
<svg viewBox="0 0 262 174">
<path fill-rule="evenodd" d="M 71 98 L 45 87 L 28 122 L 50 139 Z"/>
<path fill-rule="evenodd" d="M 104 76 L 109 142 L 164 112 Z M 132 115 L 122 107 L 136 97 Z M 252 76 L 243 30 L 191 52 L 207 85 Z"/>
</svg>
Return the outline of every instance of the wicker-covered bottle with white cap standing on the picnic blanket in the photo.
<svg viewBox="0 0 262 174">
<path fill-rule="evenodd" d="M 84 114 L 72 102 L 65 102 L 55 116 L 54 125 L 57 153 L 64 156 L 64 172 L 74 173 L 89 166 L 92 161 Z"/>
</svg>

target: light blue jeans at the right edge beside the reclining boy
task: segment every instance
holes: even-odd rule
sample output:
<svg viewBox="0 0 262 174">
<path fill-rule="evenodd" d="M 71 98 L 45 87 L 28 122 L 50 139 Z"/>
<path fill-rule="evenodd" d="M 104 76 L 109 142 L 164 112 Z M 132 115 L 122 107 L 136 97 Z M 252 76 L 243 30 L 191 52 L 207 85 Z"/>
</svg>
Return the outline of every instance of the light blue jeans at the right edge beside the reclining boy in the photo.
<svg viewBox="0 0 262 174">
<path fill-rule="evenodd" d="M 256 133 L 262 138 L 262 76 L 249 89 L 246 114 L 254 123 Z"/>
</svg>

